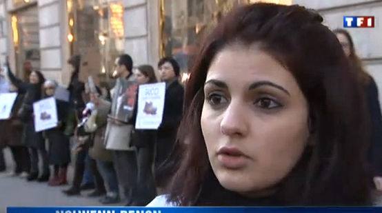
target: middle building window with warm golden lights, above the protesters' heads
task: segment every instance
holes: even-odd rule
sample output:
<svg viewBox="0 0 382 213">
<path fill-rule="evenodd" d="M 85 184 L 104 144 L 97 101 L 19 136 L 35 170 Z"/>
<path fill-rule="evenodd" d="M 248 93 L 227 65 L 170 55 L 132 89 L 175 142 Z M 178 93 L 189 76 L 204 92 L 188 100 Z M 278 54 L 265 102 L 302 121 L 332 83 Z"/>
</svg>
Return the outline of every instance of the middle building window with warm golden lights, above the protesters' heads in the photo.
<svg viewBox="0 0 382 213">
<path fill-rule="evenodd" d="M 124 52 L 122 0 L 73 1 L 73 53 L 94 54 L 99 76 L 109 77 L 114 72 L 114 59 Z M 71 22 L 69 20 L 69 22 Z"/>
</svg>

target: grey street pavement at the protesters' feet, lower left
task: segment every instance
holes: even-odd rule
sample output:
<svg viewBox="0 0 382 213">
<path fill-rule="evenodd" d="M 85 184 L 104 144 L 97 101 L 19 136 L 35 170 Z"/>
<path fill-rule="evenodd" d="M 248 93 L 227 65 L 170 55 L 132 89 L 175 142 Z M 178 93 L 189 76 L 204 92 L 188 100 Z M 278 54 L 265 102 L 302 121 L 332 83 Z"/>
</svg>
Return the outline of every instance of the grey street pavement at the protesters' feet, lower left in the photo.
<svg viewBox="0 0 382 213">
<path fill-rule="evenodd" d="M 81 196 L 66 196 L 61 192 L 70 185 L 50 187 L 48 183 L 27 182 L 21 177 L 10 177 L 8 172 L 13 168 L 9 149 L 4 150 L 7 162 L 7 172 L 0 172 L 0 213 L 6 212 L 7 206 L 102 206 L 100 197 L 86 196 L 91 190 L 81 192 Z M 68 168 L 69 182 L 73 169 Z M 116 205 L 122 205 L 117 203 Z"/>
</svg>

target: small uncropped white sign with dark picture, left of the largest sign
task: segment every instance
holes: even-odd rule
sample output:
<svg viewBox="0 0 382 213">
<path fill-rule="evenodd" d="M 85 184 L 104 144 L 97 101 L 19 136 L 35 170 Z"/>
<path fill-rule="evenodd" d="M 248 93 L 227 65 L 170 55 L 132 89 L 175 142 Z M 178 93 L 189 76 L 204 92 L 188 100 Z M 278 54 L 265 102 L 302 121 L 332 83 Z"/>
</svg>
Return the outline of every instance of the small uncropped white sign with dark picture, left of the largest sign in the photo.
<svg viewBox="0 0 382 213">
<path fill-rule="evenodd" d="M 33 113 L 36 132 L 57 127 L 57 105 L 54 97 L 34 102 Z"/>
</svg>

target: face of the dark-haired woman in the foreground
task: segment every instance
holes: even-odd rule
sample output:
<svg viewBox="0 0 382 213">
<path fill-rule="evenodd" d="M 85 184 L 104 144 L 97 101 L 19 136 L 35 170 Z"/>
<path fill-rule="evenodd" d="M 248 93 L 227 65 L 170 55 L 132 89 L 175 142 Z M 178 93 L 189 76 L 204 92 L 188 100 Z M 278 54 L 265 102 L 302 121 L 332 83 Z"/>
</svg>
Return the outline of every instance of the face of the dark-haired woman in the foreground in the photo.
<svg viewBox="0 0 382 213">
<path fill-rule="evenodd" d="M 308 104 L 292 74 L 269 54 L 231 45 L 212 61 L 201 129 L 223 187 L 257 196 L 287 176 L 308 139 Z"/>
</svg>

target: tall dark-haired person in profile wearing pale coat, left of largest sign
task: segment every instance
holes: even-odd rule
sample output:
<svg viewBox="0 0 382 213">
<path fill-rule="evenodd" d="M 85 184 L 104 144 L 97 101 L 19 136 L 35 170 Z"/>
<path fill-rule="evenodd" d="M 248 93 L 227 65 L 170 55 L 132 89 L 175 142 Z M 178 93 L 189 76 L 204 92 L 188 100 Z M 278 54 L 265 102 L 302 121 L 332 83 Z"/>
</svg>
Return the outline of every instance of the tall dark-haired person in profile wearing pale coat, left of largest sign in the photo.
<svg viewBox="0 0 382 213">
<path fill-rule="evenodd" d="M 105 132 L 106 149 L 114 151 L 114 167 L 123 187 L 126 203 L 132 203 L 132 187 L 137 183 L 137 157 L 131 145 L 131 124 L 137 82 L 132 74 L 132 59 L 122 54 L 116 61 L 117 84 L 112 94 L 112 108 Z M 110 202 L 112 200 L 110 199 Z"/>
</svg>

